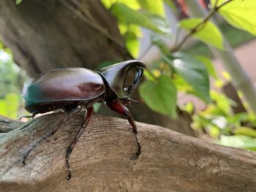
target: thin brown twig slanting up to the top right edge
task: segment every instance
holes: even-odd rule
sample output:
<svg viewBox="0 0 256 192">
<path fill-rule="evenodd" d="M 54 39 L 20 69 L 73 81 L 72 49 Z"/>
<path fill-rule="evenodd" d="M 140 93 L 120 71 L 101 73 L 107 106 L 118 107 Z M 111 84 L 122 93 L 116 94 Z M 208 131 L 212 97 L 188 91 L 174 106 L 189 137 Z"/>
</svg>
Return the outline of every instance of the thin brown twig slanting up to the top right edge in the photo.
<svg viewBox="0 0 256 192">
<path fill-rule="evenodd" d="M 174 47 L 172 47 L 170 49 L 170 52 L 173 53 L 173 52 L 176 52 L 177 50 L 181 49 L 181 47 L 184 45 L 185 42 L 187 42 L 187 39 L 189 39 L 189 37 L 192 37 L 193 34 L 196 34 L 198 31 L 202 30 L 203 26 L 206 25 L 206 23 L 208 22 L 208 20 L 211 19 L 211 17 L 214 15 L 214 13 L 216 13 L 221 7 L 225 6 L 225 4 L 228 4 L 231 1 L 233 1 L 233 0 L 224 1 L 222 4 L 219 4 L 219 6 L 217 6 L 217 2 L 218 2 L 218 0 L 217 0 L 214 4 L 214 7 L 211 8 L 211 10 L 203 18 L 203 20 L 200 23 L 198 23 L 195 27 L 191 28 L 189 33 L 186 34 L 183 39 L 181 39 L 181 42 L 179 42 L 178 45 L 175 45 Z"/>
</svg>

